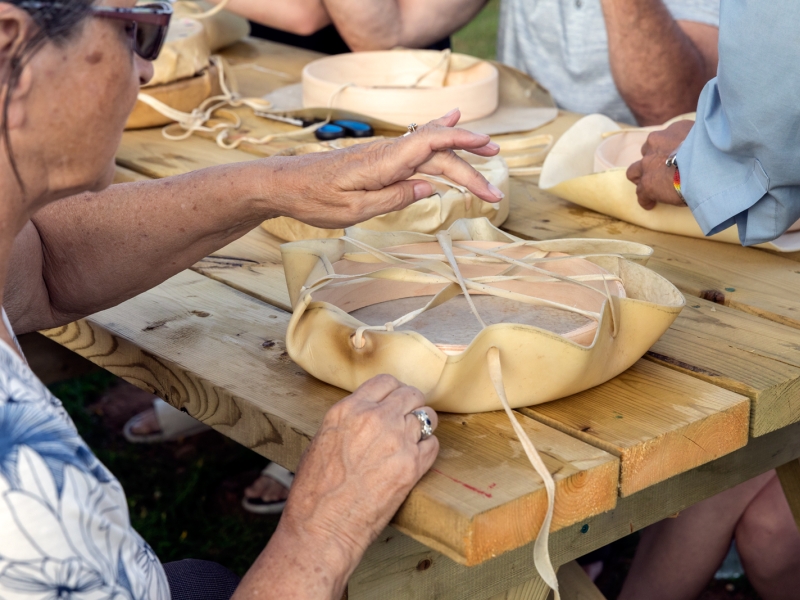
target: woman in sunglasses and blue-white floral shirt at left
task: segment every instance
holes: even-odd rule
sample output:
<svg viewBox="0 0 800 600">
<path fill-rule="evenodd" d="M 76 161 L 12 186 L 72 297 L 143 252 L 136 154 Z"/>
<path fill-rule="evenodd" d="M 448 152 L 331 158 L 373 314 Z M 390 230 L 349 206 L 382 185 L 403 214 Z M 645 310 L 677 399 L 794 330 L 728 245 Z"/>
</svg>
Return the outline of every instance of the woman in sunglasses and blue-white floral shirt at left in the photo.
<svg viewBox="0 0 800 600">
<path fill-rule="evenodd" d="M 160 283 L 290 215 L 342 227 L 432 193 L 445 175 L 501 194 L 451 149 L 497 153 L 453 129 L 458 111 L 394 141 L 214 167 L 105 189 L 169 5 L 0 3 L 0 597 L 227 598 L 167 573 L 131 529 L 119 483 L 36 380 L 14 331 L 67 323 Z M 121 8 L 115 8 L 121 7 Z M 83 193 L 91 190 L 89 193 Z M 82 194 L 75 196 L 75 194 Z M 71 197 L 70 197 L 71 196 Z M 8 318 L 6 318 L 6 311 Z M 347 578 L 430 467 L 419 391 L 388 376 L 334 406 L 303 458 L 283 518 L 236 598 L 340 598 Z M 313 550 L 312 550 L 313 549 Z M 313 560 L 309 560 L 313 556 Z M 168 581 L 168 574 L 172 577 Z M 184 574 L 185 575 L 185 574 Z"/>
</svg>

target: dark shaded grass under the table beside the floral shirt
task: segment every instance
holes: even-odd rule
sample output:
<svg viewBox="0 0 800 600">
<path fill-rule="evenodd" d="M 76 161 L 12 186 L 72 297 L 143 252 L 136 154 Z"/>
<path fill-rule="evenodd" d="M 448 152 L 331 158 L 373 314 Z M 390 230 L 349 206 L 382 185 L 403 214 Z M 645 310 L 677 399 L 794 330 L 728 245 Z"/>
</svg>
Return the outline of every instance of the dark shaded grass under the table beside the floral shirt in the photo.
<svg viewBox="0 0 800 600">
<path fill-rule="evenodd" d="M 87 410 L 116 378 L 105 371 L 51 386 L 97 457 L 120 480 L 134 528 L 162 562 L 200 558 L 244 574 L 277 525 L 246 513 L 241 485 L 265 460 L 216 433 L 183 443 L 129 444 Z"/>
</svg>

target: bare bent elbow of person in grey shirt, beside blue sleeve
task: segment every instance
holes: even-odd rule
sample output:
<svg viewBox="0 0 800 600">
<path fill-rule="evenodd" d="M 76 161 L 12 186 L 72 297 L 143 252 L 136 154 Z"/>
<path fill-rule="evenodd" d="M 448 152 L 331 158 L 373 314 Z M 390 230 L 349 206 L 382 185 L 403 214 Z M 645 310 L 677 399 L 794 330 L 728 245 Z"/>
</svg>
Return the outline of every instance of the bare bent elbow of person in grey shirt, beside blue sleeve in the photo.
<svg viewBox="0 0 800 600">
<path fill-rule="evenodd" d="M 662 0 L 603 0 L 611 72 L 640 125 L 692 112 L 714 76 L 718 32 L 677 22 Z"/>
</svg>

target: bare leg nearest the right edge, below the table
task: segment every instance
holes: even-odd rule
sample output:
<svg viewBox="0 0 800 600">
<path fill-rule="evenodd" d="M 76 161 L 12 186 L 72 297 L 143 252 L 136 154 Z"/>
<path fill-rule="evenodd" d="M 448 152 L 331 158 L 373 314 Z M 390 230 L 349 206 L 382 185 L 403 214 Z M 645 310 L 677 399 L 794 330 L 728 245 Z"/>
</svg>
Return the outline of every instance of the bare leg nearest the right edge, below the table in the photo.
<svg viewBox="0 0 800 600">
<path fill-rule="evenodd" d="M 800 532 L 774 471 L 736 526 L 736 546 L 747 577 L 763 600 L 798 597 Z"/>
</svg>

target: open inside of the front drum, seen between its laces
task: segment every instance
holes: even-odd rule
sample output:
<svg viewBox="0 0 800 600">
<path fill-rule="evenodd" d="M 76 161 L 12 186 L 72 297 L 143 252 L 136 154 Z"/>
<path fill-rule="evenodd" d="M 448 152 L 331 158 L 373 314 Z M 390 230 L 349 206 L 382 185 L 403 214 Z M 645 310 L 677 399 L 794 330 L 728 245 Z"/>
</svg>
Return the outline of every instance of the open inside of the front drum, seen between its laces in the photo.
<svg viewBox="0 0 800 600">
<path fill-rule="evenodd" d="M 522 267 L 515 267 L 500 260 L 479 257 L 469 248 L 496 251 L 523 262 L 537 259 L 536 266 L 562 275 L 602 275 L 602 278 L 578 285 L 569 281 L 547 278 Z M 421 264 L 426 260 L 447 262 L 442 249 L 436 242 L 410 244 L 384 248 L 384 252 L 411 263 Z M 582 311 L 601 313 L 608 294 L 625 297 L 621 282 L 602 267 L 584 258 L 570 257 L 558 252 L 533 251 L 524 246 L 508 246 L 498 242 L 462 242 L 453 248 L 460 257 L 459 268 L 465 278 L 491 277 L 505 275 L 530 275 L 548 281 L 510 280 L 490 282 L 487 285 L 512 291 L 532 298 L 574 307 Z M 469 260 L 473 259 L 473 260 Z M 478 259 L 475 261 L 474 259 Z M 382 262 L 367 252 L 345 254 L 342 260 L 333 263 L 335 273 L 341 275 L 368 274 L 386 269 L 392 265 Z M 424 270 L 424 272 L 430 272 Z M 350 313 L 365 325 L 384 325 L 425 306 L 433 296 L 447 287 L 448 283 L 420 283 L 389 278 L 355 279 L 347 285 L 325 287 L 314 294 L 314 300 L 328 302 Z M 518 323 L 545 329 L 564 336 L 572 341 L 589 346 L 594 340 L 598 322 L 596 319 L 571 310 L 553 306 L 528 304 L 487 293 L 470 293 L 471 299 L 486 325 L 497 323 Z M 433 307 L 409 322 L 395 328 L 396 331 L 416 331 L 436 344 L 447 354 L 463 352 L 482 326 L 472 313 L 466 298 L 460 294 L 443 304 Z"/>
</svg>

